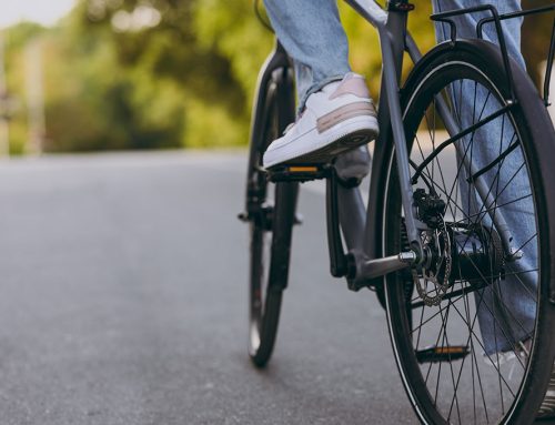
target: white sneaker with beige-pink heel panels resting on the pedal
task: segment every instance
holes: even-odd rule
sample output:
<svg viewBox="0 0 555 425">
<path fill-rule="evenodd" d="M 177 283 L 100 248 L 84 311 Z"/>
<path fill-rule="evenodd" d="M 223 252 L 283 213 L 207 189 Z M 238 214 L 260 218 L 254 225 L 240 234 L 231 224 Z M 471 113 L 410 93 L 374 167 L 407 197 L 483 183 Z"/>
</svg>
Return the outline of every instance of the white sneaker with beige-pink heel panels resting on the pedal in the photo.
<svg viewBox="0 0 555 425">
<path fill-rule="evenodd" d="M 364 77 L 347 73 L 311 94 L 301 117 L 264 153 L 264 168 L 326 163 L 377 136 L 377 119 Z"/>
</svg>

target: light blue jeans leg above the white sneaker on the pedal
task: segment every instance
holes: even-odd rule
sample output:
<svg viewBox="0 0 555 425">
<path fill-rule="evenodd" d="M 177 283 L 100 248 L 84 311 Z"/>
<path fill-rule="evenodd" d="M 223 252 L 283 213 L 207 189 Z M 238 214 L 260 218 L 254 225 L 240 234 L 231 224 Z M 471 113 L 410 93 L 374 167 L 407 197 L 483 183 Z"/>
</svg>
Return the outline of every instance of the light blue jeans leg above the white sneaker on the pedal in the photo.
<svg viewBox="0 0 555 425">
<path fill-rule="evenodd" d="M 280 42 L 295 63 L 299 110 L 306 98 L 351 71 L 336 0 L 264 0 Z"/>
</svg>

